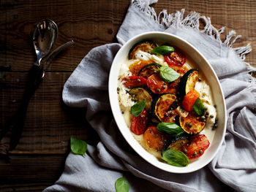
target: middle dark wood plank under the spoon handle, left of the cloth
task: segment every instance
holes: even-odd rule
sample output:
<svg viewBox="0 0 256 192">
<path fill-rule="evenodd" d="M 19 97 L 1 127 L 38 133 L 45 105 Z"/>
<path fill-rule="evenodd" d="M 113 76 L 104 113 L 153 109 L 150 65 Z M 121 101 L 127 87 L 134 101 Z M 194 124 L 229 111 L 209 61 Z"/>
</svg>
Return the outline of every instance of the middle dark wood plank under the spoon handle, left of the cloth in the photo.
<svg viewBox="0 0 256 192">
<path fill-rule="evenodd" d="M 67 153 L 71 135 L 87 142 L 96 134 L 86 122 L 86 109 L 71 109 L 61 101 L 68 72 L 48 72 L 31 98 L 19 145 L 12 153 Z M 1 126 L 8 123 L 20 104 L 27 73 L 7 72 L 1 89 Z M 0 142 L 0 153 L 6 153 L 10 134 Z"/>
</svg>

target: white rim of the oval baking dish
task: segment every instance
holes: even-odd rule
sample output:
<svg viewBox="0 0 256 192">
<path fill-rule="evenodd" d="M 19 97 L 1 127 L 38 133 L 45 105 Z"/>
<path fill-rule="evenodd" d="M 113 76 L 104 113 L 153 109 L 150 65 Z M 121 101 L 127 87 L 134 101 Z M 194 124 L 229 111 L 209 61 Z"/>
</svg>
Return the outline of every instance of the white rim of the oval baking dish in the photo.
<svg viewBox="0 0 256 192">
<path fill-rule="evenodd" d="M 151 162 L 151 161 L 148 161 L 148 159 L 146 158 L 146 153 L 148 153 L 144 148 L 143 150 L 145 151 L 141 151 L 140 150 L 140 147 L 142 147 L 135 139 L 135 143 L 130 141 L 129 140 L 129 137 L 125 134 L 125 131 L 124 129 L 121 128 L 121 124 L 120 124 L 120 121 L 118 120 L 119 116 L 117 115 L 117 109 L 114 108 L 114 106 L 116 105 L 116 102 L 118 103 L 118 99 L 115 99 L 116 97 L 114 96 L 114 94 L 116 94 L 117 96 L 117 93 L 116 93 L 116 88 L 117 88 L 117 85 L 113 85 L 113 73 L 116 69 L 114 69 L 114 66 L 121 66 L 121 62 L 119 62 L 120 64 L 117 64 L 118 63 L 118 56 L 123 52 L 123 50 L 127 47 L 127 45 L 130 44 L 130 42 L 133 42 L 135 41 L 135 39 L 140 39 L 144 36 L 147 36 L 147 35 L 164 35 L 164 36 L 169 36 L 169 37 L 174 37 L 176 39 L 178 39 L 179 41 L 181 42 L 184 42 L 185 44 L 187 44 L 189 47 L 191 47 L 195 52 L 197 52 L 198 55 L 200 55 L 200 57 L 206 62 L 206 64 L 208 64 L 208 66 L 210 67 L 211 69 L 211 72 L 212 74 L 214 75 L 214 78 L 217 80 L 218 82 L 218 87 L 219 87 L 219 90 L 221 92 L 221 99 L 222 99 L 222 103 L 223 103 L 223 110 L 224 110 L 224 117 L 223 117 L 223 128 L 222 128 L 222 137 L 220 139 L 220 142 L 217 146 L 217 149 L 214 151 L 214 153 L 211 155 L 211 158 L 208 158 L 208 161 L 205 161 L 201 166 L 198 166 L 198 167 L 195 167 L 194 169 L 192 169 L 190 167 L 190 169 L 187 169 L 187 167 L 176 167 L 176 166 L 171 166 L 170 164 L 167 164 L 167 166 L 170 166 L 171 168 L 173 169 L 165 169 L 167 166 L 165 166 L 165 168 L 163 168 L 162 166 L 158 166 L 156 164 L 154 164 L 154 162 Z M 157 39 L 157 38 L 156 38 Z M 140 40 L 137 40 L 135 41 L 136 42 L 139 42 Z M 192 56 L 191 56 L 192 58 Z M 192 58 L 193 59 L 193 58 Z M 120 70 L 120 69 L 119 69 Z M 118 70 L 118 71 L 119 71 Z M 118 72 L 119 74 L 119 72 Z M 116 80 L 117 80 L 118 77 L 116 77 Z M 114 89 L 115 88 L 115 89 Z M 157 167 L 158 169 L 162 169 L 164 170 L 165 172 L 171 172 L 171 173 L 178 173 L 178 174 L 183 174 L 183 173 L 189 173 L 189 172 L 195 172 L 197 171 L 198 169 L 201 169 L 203 168 L 204 166 L 206 166 L 207 164 L 209 164 L 213 159 L 214 157 L 217 155 L 218 151 L 219 151 L 219 148 L 222 146 L 222 143 L 225 139 L 225 132 L 226 132 L 226 128 L 227 128 L 227 108 L 226 108 L 226 104 L 225 104 L 225 97 L 224 97 L 224 94 L 223 94 L 223 91 L 222 91 L 222 87 L 220 85 L 220 82 L 219 82 L 219 78 L 217 77 L 217 74 L 214 72 L 214 69 L 213 67 L 211 66 L 211 64 L 209 64 L 208 60 L 203 56 L 202 53 L 200 53 L 199 50 L 197 50 L 196 47 L 194 47 L 193 45 L 191 45 L 189 42 L 187 42 L 186 40 L 182 39 L 181 37 L 178 37 L 174 34 L 170 34 L 170 33 L 167 33 L 167 32 L 160 32 L 160 31 L 149 31 L 149 32 L 146 32 L 146 33 L 143 33 L 143 34 L 138 34 L 136 35 L 135 37 L 132 37 L 131 39 L 129 39 L 121 48 L 120 50 L 118 50 L 118 53 L 116 53 L 115 55 L 115 58 L 113 59 L 113 63 L 111 65 L 111 69 L 110 69 L 110 74 L 109 74 L 109 80 L 108 80 L 108 93 L 109 93 L 109 100 L 110 100 L 110 107 L 111 107 L 111 111 L 113 113 L 113 117 L 116 121 L 116 124 L 117 124 L 117 127 L 119 129 L 119 131 L 121 132 L 122 136 L 124 137 L 124 139 L 127 141 L 127 143 L 132 147 L 133 150 L 135 150 L 136 153 L 138 153 L 138 155 L 140 155 L 140 157 L 142 157 L 144 160 L 146 160 L 149 164 L 153 165 L 154 167 Z M 120 111 L 120 107 L 119 107 L 119 104 L 118 104 L 118 110 Z M 121 113 L 121 111 L 120 111 Z M 122 118 L 123 123 L 124 122 L 124 118 Z M 126 125 L 126 123 L 125 123 Z M 130 130 L 129 130 L 130 131 Z M 130 132 L 130 136 L 132 136 L 132 133 Z M 133 137 L 133 136 L 132 136 Z M 138 148 L 138 145 L 140 145 L 140 147 Z M 146 153 L 145 153 L 146 152 Z M 146 156 L 144 156 L 146 155 Z M 150 153 L 148 153 L 148 155 L 151 155 Z M 159 161 L 159 160 L 158 160 Z M 160 164 L 166 164 L 166 163 L 162 163 L 161 161 L 159 161 Z"/>
</svg>

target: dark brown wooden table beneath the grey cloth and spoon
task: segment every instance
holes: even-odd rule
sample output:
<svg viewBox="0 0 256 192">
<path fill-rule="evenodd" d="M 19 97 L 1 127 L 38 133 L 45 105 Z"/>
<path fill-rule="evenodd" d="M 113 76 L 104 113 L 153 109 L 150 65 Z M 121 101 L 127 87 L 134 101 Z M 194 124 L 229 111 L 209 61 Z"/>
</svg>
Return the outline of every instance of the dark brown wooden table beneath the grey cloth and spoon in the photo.
<svg viewBox="0 0 256 192">
<path fill-rule="evenodd" d="M 76 42 L 53 61 L 32 97 L 16 149 L 7 154 L 10 134 L 0 142 L 0 191 L 42 191 L 63 171 L 70 136 L 92 145 L 97 143 L 97 134 L 86 123 L 86 110 L 65 106 L 61 91 L 89 50 L 116 42 L 128 7 L 127 0 L 0 1 L 1 127 L 17 110 L 28 71 L 35 61 L 31 46 L 35 25 L 42 18 L 56 22 L 59 27 L 56 47 L 71 39 Z M 157 12 L 162 9 L 176 12 L 182 8 L 186 14 L 200 12 L 210 17 L 216 28 L 227 26 L 227 31 L 234 29 L 241 34 L 235 47 L 248 42 L 252 48 L 256 47 L 256 1 L 159 0 L 154 8 Z M 252 50 L 246 57 L 252 66 L 256 66 L 255 53 Z"/>
</svg>

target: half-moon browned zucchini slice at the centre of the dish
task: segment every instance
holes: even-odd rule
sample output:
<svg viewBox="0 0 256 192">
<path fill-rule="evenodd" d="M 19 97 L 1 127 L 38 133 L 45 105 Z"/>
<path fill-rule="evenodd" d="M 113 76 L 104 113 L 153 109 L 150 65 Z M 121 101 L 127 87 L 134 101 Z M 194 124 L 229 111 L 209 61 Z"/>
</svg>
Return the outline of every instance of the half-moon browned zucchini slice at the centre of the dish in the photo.
<svg viewBox="0 0 256 192">
<path fill-rule="evenodd" d="M 164 93 L 159 96 L 153 104 L 153 114 L 162 121 L 165 117 L 165 113 L 169 110 L 169 107 L 176 100 L 176 95 L 173 93 Z"/>
</svg>

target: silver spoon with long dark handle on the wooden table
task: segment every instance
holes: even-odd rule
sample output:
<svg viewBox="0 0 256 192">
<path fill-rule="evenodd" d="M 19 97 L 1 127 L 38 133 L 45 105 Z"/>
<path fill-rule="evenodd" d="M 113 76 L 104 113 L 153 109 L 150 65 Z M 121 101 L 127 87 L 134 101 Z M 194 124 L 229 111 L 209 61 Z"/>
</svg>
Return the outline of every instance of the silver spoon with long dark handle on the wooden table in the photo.
<svg viewBox="0 0 256 192">
<path fill-rule="evenodd" d="M 10 141 L 10 150 L 15 149 L 18 145 L 18 141 L 23 131 L 23 125 L 26 118 L 26 111 L 29 105 L 29 100 L 37 90 L 39 84 L 42 82 L 42 76 L 44 74 L 43 67 L 40 66 L 40 62 L 45 55 L 50 53 L 53 45 L 56 42 L 58 36 L 58 28 L 56 23 L 52 20 L 42 20 L 37 24 L 37 27 L 33 35 L 34 50 L 37 54 L 37 61 L 31 67 L 29 71 L 28 81 L 24 91 L 23 99 L 18 107 L 18 111 L 12 117 L 10 124 L 1 130 L 0 140 L 4 135 L 12 129 L 12 136 Z"/>
</svg>

